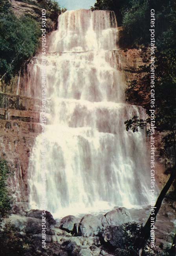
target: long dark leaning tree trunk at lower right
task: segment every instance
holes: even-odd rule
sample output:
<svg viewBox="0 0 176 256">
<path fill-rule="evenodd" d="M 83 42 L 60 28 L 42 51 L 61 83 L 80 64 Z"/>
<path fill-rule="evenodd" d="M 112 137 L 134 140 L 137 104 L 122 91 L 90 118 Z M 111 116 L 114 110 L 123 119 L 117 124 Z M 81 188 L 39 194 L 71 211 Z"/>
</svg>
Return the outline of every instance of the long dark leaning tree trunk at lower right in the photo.
<svg viewBox="0 0 176 256">
<path fill-rule="evenodd" d="M 151 217 L 154 217 L 154 223 L 155 223 L 156 215 L 161 207 L 162 201 L 163 201 L 167 191 L 169 190 L 170 186 L 172 185 L 172 183 L 174 182 L 174 180 L 176 178 L 176 170 L 175 169 L 176 169 L 176 166 L 174 166 L 174 168 L 172 169 L 172 173 L 170 174 L 169 180 L 167 181 L 167 183 L 163 187 L 161 193 L 159 194 L 159 197 L 154 206 L 155 214 L 154 215 L 150 214 L 150 217 L 148 218 L 147 222 L 145 223 L 145 225 L 143 226 L 143 228 L 141 230 L 141 234 L 140 234 L 138 245 L 137 245 L 138 249 L 139 249 L 139 256 L 142 255 L 142 249 L 145 246 L 145 243 L 147 242 L 148 238 L 150 237 Z"/>
</svg>

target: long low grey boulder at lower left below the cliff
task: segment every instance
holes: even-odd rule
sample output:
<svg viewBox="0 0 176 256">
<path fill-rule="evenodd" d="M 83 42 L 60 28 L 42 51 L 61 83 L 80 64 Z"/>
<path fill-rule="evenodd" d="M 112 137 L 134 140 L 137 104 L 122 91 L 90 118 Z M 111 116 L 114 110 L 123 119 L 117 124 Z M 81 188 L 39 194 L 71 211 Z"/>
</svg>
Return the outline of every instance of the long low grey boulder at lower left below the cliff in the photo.
<svg viewBox="0 0 176 256">
<path fill-rule="evenodd" d="M 31 217 L 25 217 L 22 215 L 12 214 L 6 219 L 11 225 L 19 232 L 25 232 L 28 234 L 39 234 L 42 232 L 42 220 Z M 49 223 L 46 221 L 46 233 L 52 235 L 54 232 L 49 228 Z"/>
</svg>

